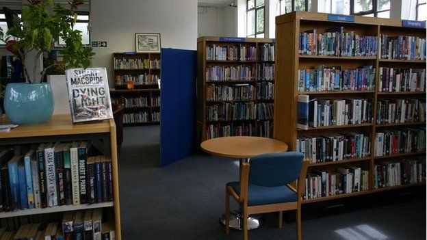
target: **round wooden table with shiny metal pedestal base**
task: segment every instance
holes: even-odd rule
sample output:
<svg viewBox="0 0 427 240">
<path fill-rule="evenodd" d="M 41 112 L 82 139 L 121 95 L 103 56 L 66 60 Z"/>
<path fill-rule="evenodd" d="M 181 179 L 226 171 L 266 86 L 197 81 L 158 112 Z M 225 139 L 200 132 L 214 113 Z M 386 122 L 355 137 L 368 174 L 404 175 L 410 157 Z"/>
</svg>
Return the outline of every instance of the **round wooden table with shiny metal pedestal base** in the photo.
<svg viewBox="0 0 427 240">
<path fill-rule="evenodd" d="M 200 147 L 211 155 L 240 159 L 240 163 L 263 153 L 287 151 L 287 144 L 279 140 L 246 136 L 217 137 L 202 142 Z M 230 215 L 230 228 L 242 230 L 241 212 L 233 211 Z M 248 217 L 247 221 L 249 230 L 261 226 L 259 217 Z M 225 225 L 225 215 L 222 215 L 220 222 Z"/>
</svg>

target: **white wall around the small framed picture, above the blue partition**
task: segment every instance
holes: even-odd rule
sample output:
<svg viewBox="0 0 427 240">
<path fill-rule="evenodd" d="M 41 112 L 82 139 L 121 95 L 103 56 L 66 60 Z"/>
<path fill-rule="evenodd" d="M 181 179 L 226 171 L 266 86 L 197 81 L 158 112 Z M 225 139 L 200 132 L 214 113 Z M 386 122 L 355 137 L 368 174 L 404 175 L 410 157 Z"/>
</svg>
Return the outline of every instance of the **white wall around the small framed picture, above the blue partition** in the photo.
<svg viewBox="0 0 427 240">
<path fill-rule="evenodd" d="M 135 51 L 135 33 L 160 33 L 161 47 L 196 50 L 196 0 L 92 0 L 90 38 L 107 41 L 94 48 L 93 67 L 106 67 L 112 83 L 112 53 Z M 111 85 L 112 86 L 112 85 Z"/>
</svg>

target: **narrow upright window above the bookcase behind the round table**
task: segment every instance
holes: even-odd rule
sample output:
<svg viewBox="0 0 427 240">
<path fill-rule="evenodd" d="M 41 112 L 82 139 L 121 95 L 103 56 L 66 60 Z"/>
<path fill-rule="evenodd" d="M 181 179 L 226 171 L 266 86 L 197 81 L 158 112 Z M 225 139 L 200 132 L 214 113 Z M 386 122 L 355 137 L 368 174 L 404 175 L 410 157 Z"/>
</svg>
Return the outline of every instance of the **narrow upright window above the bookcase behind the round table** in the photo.
<svg viewBox="0 0 427 240">
<path fill-rule="evenodd" d="M 265 14 L 264 0 L 247 0 L 246 1 L 246 23 L 248 38 L 263 38 L 264 37 L 264 19 Z"/>
</svg>

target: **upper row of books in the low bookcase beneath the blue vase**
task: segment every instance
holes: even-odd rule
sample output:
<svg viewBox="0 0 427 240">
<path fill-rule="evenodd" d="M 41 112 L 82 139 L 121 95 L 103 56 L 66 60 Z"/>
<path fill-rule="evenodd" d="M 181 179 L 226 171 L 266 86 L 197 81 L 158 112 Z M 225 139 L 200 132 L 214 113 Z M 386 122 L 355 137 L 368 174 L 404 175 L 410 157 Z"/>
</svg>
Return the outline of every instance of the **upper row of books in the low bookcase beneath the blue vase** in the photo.
<svg viewBox="0 0 427 240">
<path fill-rule="evenodd" d="M 40 144 L 25 155 L 0 152 L 0 211 L 113 200 L 112 160 L 88 157 L 89 142 Z"/>
</svg>

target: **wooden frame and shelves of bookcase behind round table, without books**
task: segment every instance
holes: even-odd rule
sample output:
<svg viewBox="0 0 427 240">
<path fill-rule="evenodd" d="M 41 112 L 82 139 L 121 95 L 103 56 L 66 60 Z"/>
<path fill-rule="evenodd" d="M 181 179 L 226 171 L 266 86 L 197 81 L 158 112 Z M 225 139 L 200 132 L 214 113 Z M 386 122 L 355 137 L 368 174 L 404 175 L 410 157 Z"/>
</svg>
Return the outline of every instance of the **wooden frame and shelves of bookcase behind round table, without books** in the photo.
<svg viewBox="0 0 427 240">
<path fill-rule="evenodd" d="M 266 45 L 268 44 L 268 45 Z M 240 58 L 241 51 L 237 50 L 235 59 L 230 59 L 227 54 L 226 59 L 208 59 L 207 47 L 209 46 L 220 46 L 227 47 L 227 49 L 235 48 L 240 49 L 240 47 L 245 47 L 255 49 L 255 57 L 250 58 Z M 272 46 L 273 53 L 272 58 L 266 59 L 265 57 L 261 59 L 261 50 L 262 46 Z M 265 104 L 264 106 L 273 105 L 273 96 L 274 96 L 274 39 L 268 38 L 222 38 L 222 37 L 201 37 L 197 40 L 197 103 L 196 103 L 196 126 L 197 126 L 197 139 L 199 142 L 203 142 L 206 139 L 209 139 L 207 134 L 207 129 L 209 125 L 217 126 L 218 129 L 221 129 L 223 126 L 230 126 L 230 135 L 237 135 L 233 133 L 237 131 L 239 126 L 246 126 L 246 129 L 252 129 L 252 133 L 244 132 L 241 135 L 262 135 L 264 137 L 272 137 L 272 126 L 273 118 L 271 111 L 271 118 L 263 118 L 260 120 L 257 117 L 246 119 L 246 120 L 234 120 L 233 119 L 233 105 L 234 104 L 244 104 L 244 103 L 253 103 L 255 105 L 255 112 L 257 112 L 258 104 Z M 267 69 L 273 69 L 271 74 L 268 73 L 268 70 L 264 70 L 265 66 Z M 209 69 L 219 67 L 219 68 L 238 68 L 246 67 L 251 70 L 250 76 L 239 77 L 239 79 L 226 78 L 221 80 L 207 79 L 207 71 Z M 263 76 L 271 76 L 268 78 L 263 78 Z M 271 98 L 261 99 L 258 94 L 259 85 L 266 86 L 272 84 L 272 94 Z M 233 91 L 235 88 L 253 86 L 255 88 L 253 98 L 245 99 L 236 99 L 236 96 L 233 95 L 233 99 L 220 100 L 220 101 L 209 101 L 207 99 L 207 90 L 209 86 L 215 87 L 229 87 Z M 214 87 L 213 87 L 214 88 Z M 207 107 L 209 106 L 224 106 L 224 104 L 231 105 L 231 119 L 228 120 L 208 120 L 207 116 Z M 219 111 L 218 111 L 219 114 Z M 248 125 L 251 124 L 252 127 Z M 267 127 L 266 127 L 267 126 Z M 264 134 L 261 134 L 260 129 L 263 128 Z M 266 129 L 268 128 L 268 129 Z M 242 128 L 243 129 L 243 128 Z M 224 136 L 225 133 L 220 134 Z M 239 134 L 240 135 L 240 134 Z"/>
</svg>

